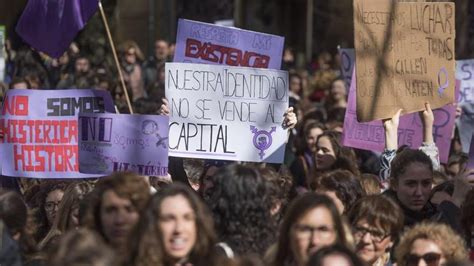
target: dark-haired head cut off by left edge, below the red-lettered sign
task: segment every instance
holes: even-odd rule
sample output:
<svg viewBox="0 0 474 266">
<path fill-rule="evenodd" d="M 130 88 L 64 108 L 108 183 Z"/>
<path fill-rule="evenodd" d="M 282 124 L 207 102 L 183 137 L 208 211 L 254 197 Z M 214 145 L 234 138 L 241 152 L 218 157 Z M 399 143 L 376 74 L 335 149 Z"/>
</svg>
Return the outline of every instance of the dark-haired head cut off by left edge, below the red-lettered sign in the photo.
<svg viewBox="0 0 474 266">
<path fill-rule="evenodd" d="M 3 220 L 13 239 L 18 241 L 26 226 L 28 208 L 19 194 L 0 190 L 0 220 Z"/>
</svg>

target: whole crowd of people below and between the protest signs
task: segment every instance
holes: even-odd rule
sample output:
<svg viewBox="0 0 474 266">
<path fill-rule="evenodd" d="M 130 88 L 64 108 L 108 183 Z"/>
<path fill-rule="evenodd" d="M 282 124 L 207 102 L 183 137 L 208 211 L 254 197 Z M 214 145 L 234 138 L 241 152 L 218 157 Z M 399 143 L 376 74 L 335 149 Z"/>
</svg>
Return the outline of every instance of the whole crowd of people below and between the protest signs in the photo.
<svg viewBox="0 0 474 266">
<path fill-rule="evenodd" d="M 133 109 L 166 114 L 164 66 L 133 41 L 119 58 Z M 95 179 L 1 177 L 0 265 L 469 265 L 474 261 L 474 169 L 457 132 L 447 164 L 433 141 L 398 145 L 400 112 L 384 121 L 382 154 L 341 143 L 347 88 L 338 56 L 304 68 L 287 48 L 290 106 L 282 164 L 170 157 L 172 182 L 117 172 Z M 127 113 L 113 65 L 77 44 L 59 59 L 7 45 L 7 89 L 95 88 Z M 462 114 L 460 114 L 462 115 Z M 165 180 L 165 181 L 164 181 Z"/>
</svg>

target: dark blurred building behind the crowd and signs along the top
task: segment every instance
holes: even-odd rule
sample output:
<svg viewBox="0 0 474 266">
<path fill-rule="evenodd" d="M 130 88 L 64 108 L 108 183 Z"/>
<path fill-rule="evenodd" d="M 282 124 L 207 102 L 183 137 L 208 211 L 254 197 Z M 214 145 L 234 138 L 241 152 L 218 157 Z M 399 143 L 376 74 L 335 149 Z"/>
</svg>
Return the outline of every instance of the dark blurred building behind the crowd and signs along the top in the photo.
<svg viewBox="0 0 474 266">
<path fill-rule="evenodd" d="M 0 25 L 18 43 L 14 25 L 27 0 L 0 0 Z M 456 59 L 474 57 L 474 1 L 455 0 Z M 323 51 L 354 47 L 352 0 L 102 0 L 117 43 L 135 40 L 150 55 L 154 41 L 175 42 L 178 18 L 214 23 L 231 20 L 236 27 L 285 37 L 304 66 Z M 91 51 L 106 52 L 106 38 L 96 14 L 77 41 Z"/>
</svg>

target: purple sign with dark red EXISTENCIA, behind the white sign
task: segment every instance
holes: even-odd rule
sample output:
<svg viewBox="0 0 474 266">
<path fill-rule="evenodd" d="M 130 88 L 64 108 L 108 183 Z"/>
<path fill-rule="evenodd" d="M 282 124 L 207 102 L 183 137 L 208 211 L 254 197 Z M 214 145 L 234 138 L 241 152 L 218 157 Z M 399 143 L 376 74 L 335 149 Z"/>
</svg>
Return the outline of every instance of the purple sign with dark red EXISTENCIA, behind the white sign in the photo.
<svg viewBox="0 0 474 266">
<path fill-rule="evenodd" d="M 174 62 L 280 69 L 280 36 L 179 19 Z"/>
</svg>

